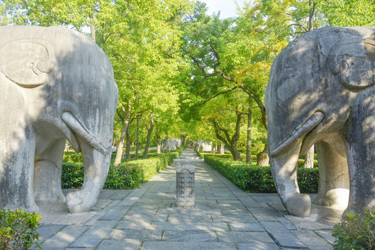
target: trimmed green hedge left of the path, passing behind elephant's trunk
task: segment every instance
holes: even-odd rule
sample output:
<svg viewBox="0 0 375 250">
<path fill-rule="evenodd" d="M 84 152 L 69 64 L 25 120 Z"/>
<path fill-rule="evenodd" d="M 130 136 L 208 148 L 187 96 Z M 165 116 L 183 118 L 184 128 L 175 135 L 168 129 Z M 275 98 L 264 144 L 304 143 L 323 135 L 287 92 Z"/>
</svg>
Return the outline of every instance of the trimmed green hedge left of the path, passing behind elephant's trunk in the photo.
<svg viewBox="0 0 375 250">
<path fill-rule="evenodd" d="M 160 154 L 146 160 L 132 160 L 110 166 L 105 189 L 137 188 L 162 169 L 168 167 L 179 156 L 179 152 Z M 83 185 L 83 163 L 63 162 L 62 188 L 81 188 Z"/>
</svg>

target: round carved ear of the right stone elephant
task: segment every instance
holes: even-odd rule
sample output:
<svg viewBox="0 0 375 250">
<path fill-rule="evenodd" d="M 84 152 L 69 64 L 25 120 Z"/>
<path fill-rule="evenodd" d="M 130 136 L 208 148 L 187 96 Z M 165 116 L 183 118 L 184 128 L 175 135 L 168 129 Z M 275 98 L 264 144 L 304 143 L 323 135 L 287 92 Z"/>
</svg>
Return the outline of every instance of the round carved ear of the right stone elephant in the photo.
<svg viewBox="0 0 375 250">
<path fill-rule="evenodd" d="M 375 34 L 336 42 L 328 56 L 328 68 L 349 90 L 362 90 L 375 83 Z"/>
</svg>

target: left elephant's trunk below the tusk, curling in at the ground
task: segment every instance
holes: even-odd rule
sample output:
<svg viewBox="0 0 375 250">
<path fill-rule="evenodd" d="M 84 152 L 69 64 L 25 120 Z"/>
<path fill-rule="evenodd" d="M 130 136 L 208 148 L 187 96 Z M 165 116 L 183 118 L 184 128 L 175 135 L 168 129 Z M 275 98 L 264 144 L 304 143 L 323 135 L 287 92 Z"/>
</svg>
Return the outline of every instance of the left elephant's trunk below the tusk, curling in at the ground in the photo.
<svg viewBox="0 0 375 250">
<path fill-rule="evenodd" d="M 84 180 L 81 190 L 69 192 L 66 196 L 70 213 L 90 212 L 106 182 L 111 151 L 103 154 L 85 142 L 81 143 L 84 165 Z"/>
</svg>

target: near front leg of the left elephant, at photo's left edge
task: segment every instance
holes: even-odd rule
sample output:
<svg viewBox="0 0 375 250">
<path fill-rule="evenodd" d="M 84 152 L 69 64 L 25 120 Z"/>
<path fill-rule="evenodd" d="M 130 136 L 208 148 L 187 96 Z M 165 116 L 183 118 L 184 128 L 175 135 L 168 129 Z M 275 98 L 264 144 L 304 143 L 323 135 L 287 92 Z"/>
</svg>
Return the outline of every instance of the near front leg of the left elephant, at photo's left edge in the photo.
<svg viewBox="0 0 375 250">
<path fill-rule="evenodd" d="M 33 195 L 35 137 L 29 127 L 17 132 L 0 131 L 0 208 L 37 212 Z"/>
</svg>

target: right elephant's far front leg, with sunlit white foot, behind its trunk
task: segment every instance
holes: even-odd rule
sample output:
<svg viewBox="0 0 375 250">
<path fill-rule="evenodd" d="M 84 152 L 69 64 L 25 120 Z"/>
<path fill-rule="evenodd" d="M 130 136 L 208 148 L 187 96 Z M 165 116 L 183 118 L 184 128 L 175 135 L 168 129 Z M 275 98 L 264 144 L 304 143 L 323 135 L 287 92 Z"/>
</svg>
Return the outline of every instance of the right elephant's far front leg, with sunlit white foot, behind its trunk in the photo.
<svg viewBox="0 0 375 250">
<path fill-rule="evenodd" d="M 347 158 L 326 142 L 317 142 L 319 163 L 319 192 L 315 203 L 320 206 L 345 209 L 349 200 L 349 173 Z"/>
</svg>

